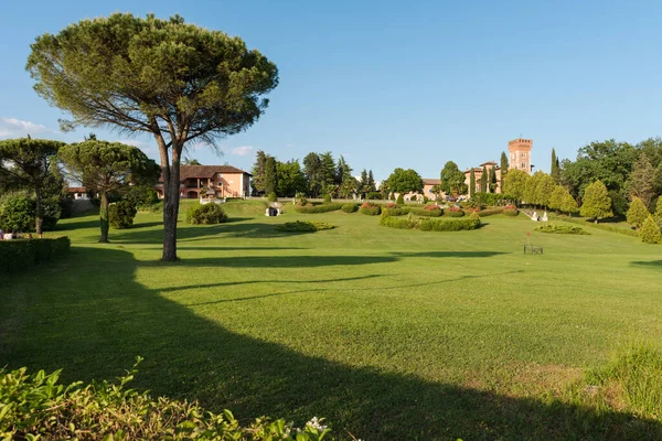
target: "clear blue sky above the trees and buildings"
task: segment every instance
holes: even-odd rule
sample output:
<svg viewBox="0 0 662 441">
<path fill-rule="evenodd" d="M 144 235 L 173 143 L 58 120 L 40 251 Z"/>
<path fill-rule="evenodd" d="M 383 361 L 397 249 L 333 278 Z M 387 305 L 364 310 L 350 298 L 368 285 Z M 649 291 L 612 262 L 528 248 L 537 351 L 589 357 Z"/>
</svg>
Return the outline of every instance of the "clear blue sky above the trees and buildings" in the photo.
<svg viewBox="0 0 662 441">
<path fill-rule="evenodd" d="M 274 61 L 280 84 L 246 132 L 189 153 L 249 169 L 256 150 L 279 160 L 343 154 L 376 179 L 396 166 L 438 178 L 499 161 L 510 139 L 533 139 L 533 163 L 579 147 L 662 135 L 660 1 L 18 1 L 0 9 L 0 138 L 78 141 L 32 90 L 30 43 L 116 11 L 179 13 L 238 35 Z M 121 136 L 94 129 L 106 139 Z M 132 140 L 156 157 L 149 138 Z"/>
</svg>

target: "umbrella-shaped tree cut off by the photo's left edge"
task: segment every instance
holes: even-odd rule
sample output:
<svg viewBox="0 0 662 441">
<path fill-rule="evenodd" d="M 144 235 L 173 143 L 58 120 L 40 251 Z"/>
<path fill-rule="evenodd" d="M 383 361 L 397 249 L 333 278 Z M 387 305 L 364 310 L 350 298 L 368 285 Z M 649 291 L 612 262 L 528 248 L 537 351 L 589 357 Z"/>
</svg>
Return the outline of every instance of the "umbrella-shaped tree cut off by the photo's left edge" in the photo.
<svg viewBox="0 0 662 441">
<path fill-rule="evenodd" d="M 57 151 L 63 142 L 19 138 L 0 141 L 0 172 L 17 185 L 28 186 L 35 196 L 35 232 L 42 234 L 44 187 L 55 180 Z"/>
</svg>

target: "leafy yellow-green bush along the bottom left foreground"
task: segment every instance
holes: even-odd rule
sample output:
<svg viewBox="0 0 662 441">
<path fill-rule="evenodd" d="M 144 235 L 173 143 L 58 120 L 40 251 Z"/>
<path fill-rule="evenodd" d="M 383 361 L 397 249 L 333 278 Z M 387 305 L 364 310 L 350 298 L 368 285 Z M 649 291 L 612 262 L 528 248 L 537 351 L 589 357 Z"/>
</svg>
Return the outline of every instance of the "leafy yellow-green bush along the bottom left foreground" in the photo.
<svg viewBox="0 0 662 441">
<path fill-rule="evenodd" d="M 302 429 L 268 418 L 242 426 L 229 410 L 215 415 L 196 402 L 152 399 L 125 388 L 136 366 L 119 384 L 65 386 L 60 373 L 0 369 L 0 439 L 319 441 L 330 432 L 317 418 Z"/>
</svg>

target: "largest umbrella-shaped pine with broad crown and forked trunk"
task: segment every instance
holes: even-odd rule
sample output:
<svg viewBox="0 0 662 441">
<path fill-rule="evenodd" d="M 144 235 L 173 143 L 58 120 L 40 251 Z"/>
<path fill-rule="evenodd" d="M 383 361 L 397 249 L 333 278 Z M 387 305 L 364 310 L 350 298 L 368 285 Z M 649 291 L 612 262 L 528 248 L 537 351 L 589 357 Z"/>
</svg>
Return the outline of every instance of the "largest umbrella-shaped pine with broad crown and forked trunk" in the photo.
<svg viewBox="0 0 662 441">
<path fill-rule="evenodd" d="M 213 146 L 252 126 L 278 84 L 276 65 L 239 37 L 130 13 L 85 19 L 38 36 L 26 69 L 36 93 L 68 112 L 63 130 L 149 133 L 163 176 L 163 260 L 177 260 L 180 162 L 188 142 Z"/>
</svg>

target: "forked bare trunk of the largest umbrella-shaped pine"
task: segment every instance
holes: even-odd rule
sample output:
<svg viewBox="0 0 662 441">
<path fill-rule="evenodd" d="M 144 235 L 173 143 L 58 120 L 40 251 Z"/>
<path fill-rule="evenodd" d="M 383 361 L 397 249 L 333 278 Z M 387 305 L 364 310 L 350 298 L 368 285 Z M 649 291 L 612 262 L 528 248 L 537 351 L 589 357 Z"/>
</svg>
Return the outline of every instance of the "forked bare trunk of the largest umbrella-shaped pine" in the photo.
<svg viewBox="0 0 662 441">
<path fill-rule="evenodd" d="M 162 260 L 177 260 L 177 216 L 180 196 L 180 153 L 172 149 L 172 165 L 163 166 L 163 256 Z"/>
</svg>

